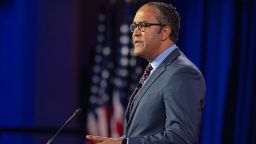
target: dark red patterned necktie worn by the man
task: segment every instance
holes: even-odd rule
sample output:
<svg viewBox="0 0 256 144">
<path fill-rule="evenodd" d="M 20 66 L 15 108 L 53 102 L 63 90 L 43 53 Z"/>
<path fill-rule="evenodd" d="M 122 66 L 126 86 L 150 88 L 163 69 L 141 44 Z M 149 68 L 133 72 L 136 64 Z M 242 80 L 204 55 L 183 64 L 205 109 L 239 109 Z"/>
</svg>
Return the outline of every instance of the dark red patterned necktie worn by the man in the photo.
<svg viewBox="0 0 256 144">
<path fill-rule="evenodd" d="M 143 85 L 144 83 L 145 83 L 145 81 L 148 79 L 148 77 L 149 77 L 149 75 L 150 75 L 150 71 L 153 69 L 153 67 L 150 65 L 150 64 L 148 64 L 148 66 L 146 67 L 146 69 L 145 69 L 145 71 L 144 71 L 144 73 L 143 73 L 143 75 L 142 75 L 142 79 L 140 80 L 140 84 L 141 85 Z M 132 109 L 133 109 L 133 105 L 134 105 L 134 103 L 135 103 L 135 100 L 136 100 L 136 98 L 138 97 L 138 93 L 139 93 L 139 90 L 137 90 L 137 92 L 136 92 L 136 94 L 133 96 L 133 98 L 132 98 L 132 100 L 131 100 L 131 105 L 129 106 L 129 108 L 128 108 L 128 117 L 130 118 L 130 116 L 131 116 L 131 112 L 132 112 Z"/>
</svg>

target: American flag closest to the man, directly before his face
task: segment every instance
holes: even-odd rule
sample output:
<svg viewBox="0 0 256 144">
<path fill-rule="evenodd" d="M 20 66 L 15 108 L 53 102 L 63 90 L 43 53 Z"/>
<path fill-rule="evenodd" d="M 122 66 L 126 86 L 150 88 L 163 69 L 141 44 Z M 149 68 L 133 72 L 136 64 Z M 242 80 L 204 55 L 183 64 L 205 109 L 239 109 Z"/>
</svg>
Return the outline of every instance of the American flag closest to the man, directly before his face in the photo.
<svg viewBox="0 0 256 144">
<path fill-rule="evenodd" d="M 123 20 L 120 25 L 119 41 L 115 62 L 115 76 L 113 87 L 113 115 L 111 117 L 111 137 L 120 137 L 123 134 L 123 120 L 128 98 L 136 87 L 142 67 L 138 59 L 133 56 L 131 33 L 129 25 L 133 19 L 134 3 L 126 1 L 123 11 Z"/>
</svg>

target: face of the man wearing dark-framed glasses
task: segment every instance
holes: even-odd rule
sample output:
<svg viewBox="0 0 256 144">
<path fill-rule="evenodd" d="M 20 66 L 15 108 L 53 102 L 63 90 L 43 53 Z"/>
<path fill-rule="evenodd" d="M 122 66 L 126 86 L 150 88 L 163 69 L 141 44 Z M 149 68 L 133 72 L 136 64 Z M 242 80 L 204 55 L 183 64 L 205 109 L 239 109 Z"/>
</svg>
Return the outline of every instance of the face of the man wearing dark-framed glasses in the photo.
<svg viewBox="0 0 256 144">
<path fill-rule="evenodd" d="M 157 20 L 157 9 L 154 7 L 143 6 L 141 7 L 133 20 L 133 23 L 154 23 L 159 24 Z M 161 27 L 158 25 L 153 25 L 146 27 L 144 32 L 141 32 L 137 27 L 133 34 L 133 45 L 134 45 L 134 55 L 140 56 L 148 61 L 154 60 L 154 58 L 159 54 L 159 47 L 161 43 Z"/>
</svg>

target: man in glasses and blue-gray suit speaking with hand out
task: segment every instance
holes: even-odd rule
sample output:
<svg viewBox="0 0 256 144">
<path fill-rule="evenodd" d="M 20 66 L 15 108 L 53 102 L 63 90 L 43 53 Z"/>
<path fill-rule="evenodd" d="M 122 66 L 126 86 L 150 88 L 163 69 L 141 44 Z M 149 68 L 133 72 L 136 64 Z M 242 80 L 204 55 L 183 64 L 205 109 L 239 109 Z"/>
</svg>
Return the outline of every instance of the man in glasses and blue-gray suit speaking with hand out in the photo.
<svg viewBox="0 0 256 144">
<path fill-rule="evenodd" d="M 179 28 L 179 14 L 170 4 L 150 2 L 137 11 L 130 26 L 134 55 L 152 66 L 145 72 L 149 76 L 144 73 L 130 98 L 124 136 L 87 135 L 88 140 L 97 144 L 199 143 L 205 83 L 175 44 Z"/>
</svg>

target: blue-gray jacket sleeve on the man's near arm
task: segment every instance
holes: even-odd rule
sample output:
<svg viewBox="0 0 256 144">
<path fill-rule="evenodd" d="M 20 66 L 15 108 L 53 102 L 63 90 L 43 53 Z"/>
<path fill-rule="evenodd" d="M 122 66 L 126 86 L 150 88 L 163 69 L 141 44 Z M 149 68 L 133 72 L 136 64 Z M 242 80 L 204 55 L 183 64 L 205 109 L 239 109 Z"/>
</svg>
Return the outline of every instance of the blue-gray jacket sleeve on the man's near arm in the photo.
<svg viewBox="0 0 256 144">
<path fill-rule="evenodd" d="M 205 96 L 203 76 L 195 68 L 182 67 L 166 79 L 163 131 L 149 136 L 129 137 L 129 144 L 198 143 Z"/>
</svg>

